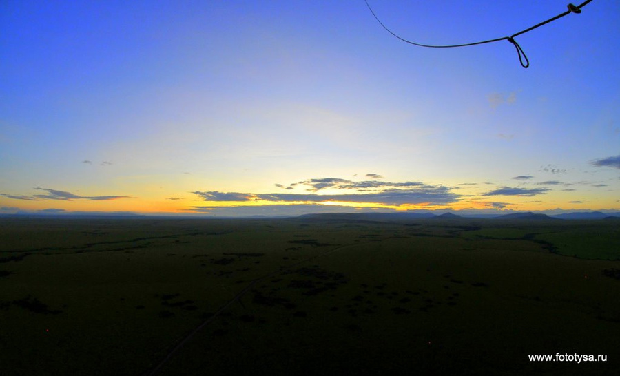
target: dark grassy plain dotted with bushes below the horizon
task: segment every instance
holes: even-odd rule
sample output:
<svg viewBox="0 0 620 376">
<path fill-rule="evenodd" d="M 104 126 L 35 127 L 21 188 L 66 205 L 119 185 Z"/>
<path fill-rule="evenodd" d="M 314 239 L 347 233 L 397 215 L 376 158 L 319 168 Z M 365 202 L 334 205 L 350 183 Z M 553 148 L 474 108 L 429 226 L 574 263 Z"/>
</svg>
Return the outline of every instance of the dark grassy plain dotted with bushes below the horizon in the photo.
<svg viewBox="0 0 620 376">
<path fill-rule="evenodd" d="M 0 219 L 2 375 L 618 375 L 616 221 Z M 529 362 L 530 354 L 607 362 Z"/>
</svg>

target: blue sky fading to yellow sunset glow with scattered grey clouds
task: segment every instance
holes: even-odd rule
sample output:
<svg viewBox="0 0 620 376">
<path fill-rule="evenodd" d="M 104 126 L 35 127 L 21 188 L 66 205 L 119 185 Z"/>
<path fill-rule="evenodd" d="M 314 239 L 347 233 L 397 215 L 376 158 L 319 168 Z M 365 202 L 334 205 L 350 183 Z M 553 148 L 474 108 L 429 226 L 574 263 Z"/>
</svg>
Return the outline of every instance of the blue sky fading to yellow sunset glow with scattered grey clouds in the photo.
<svg viewBox="0 0 620 376">
<path fill-rule="evenodd" d="M 404 39 L 566 0 L 369 0 Z M 620 11 L 0 2 L 0 213 L 620 210 Z"/>
</svg>

